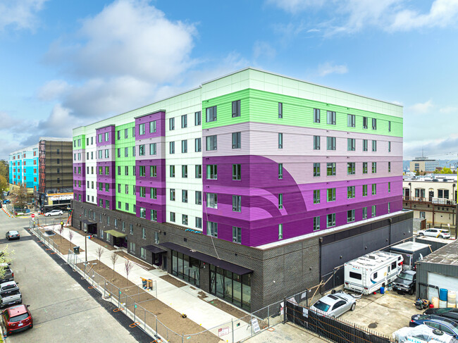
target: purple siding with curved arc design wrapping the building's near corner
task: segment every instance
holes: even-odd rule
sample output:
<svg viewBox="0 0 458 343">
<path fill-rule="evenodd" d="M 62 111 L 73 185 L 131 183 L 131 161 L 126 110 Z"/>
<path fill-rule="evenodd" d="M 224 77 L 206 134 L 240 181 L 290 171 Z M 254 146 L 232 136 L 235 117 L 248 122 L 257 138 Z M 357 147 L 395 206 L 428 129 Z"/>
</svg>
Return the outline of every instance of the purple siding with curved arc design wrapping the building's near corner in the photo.
<svg viewBox="0 0 458 343">
<path fill-rule="evenodd" d="M 218 165 L 218 180 L 206 180 L 206 165 Z M 232 180 L 232 165 L 241 165 L 240 181 Z M 206 208 L 204 194 L 204 234 L 206 221 L 218 223 L 218 238 L 232 240 L 232 227 L 242 227 L 242 244 L 259 246 L 278 241 L 278 224 L 283 224 L 283 239 L 313 232 L 313 218 L 321 218 L 326 229 L 326 215 L 336 213 L 336 226 L 347 224 L 347 211 L 355 210 L 355 221 L 362 220 L 362 208 L 377 206 L 377 216 L 402 209 L 402 176 L 369 180 L 330 181 L 297 185 L 283 168 L 278 180 L 278 163 L 262 156 L 206 157 L 203 166 L 205 192 L 218 194 L 218 208 Z M 391 192 L 388 194 L 388 182 Z M 377 194 L 371 195 L 376 183 Z M 347 199 L 347 186 L 355 186 L 356 197 Z M 368 185 L 368 197 L 362 197 L 362 185 Z M 326 189 L 336 188 L 337 201 L 326 202 Z M 313 204 L 313 190 L 321 189 L 321 204 Z M 283 208 L 278 208 L 278 194 L 283 194 Z M 242 195 L 242 211 L 232 211 L 232 195 Z"/>
</svg>

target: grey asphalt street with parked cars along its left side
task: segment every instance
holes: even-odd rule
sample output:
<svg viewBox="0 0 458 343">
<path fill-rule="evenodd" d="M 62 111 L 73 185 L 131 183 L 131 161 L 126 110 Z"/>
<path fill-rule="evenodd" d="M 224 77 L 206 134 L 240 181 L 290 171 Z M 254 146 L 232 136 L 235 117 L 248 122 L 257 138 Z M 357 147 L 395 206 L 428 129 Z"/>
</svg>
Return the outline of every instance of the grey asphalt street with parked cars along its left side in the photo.
<svg viewBox="0 0 458 343">
<path fill-rule="evenodd" d="M 11 335 L 10 342 L 151 342 L 139 328 L 129 328 L 132 320 L 113 312 L 116 306 L 81 280 L 56 254 L 51 255 L 26 230 L 29 218 L 9 218 L 0 211 L 0 237 L 18 230 L 20 240 L 0 239 L 13 251 L 11 269 L 30 305 L 34 328 Z M 41 221 L 41 220 L 40 220 Z"/>
</svg>

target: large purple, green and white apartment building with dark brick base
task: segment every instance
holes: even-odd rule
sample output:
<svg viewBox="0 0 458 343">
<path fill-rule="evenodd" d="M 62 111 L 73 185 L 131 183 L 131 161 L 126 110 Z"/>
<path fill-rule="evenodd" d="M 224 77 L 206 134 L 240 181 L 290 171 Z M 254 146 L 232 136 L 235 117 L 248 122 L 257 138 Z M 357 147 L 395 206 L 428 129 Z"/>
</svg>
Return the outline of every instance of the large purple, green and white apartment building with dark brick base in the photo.
<svg viewBox="0 0 458 343">
<path fill-rule="evenodd" d="M 253 68 L 75 128 L 73 172 L 75 227 L 251 310 L 411 235 L 402 106 Z"/>
</svg>

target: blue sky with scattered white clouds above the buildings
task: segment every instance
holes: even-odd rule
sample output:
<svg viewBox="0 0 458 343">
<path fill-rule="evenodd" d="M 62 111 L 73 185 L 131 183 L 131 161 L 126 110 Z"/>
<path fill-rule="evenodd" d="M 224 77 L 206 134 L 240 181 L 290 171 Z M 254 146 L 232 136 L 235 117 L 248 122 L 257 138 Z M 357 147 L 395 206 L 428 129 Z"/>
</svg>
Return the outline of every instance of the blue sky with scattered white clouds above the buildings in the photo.
<svg viewBox="0 0 458 343">
<path fill-rule="evenodd" d="M 458 0 L 0 0 L 0 158 L 247 66 L 404 106 L 458 154 Z"/>
</svg>

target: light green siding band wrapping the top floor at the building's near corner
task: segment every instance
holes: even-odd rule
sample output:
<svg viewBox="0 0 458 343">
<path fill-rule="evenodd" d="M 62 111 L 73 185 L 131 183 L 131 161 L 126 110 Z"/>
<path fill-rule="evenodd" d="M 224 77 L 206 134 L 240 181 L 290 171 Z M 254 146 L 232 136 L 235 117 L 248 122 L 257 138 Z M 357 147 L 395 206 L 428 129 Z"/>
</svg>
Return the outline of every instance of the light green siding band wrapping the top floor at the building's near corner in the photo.
<svg viewBox="0 0 458 343">
<path fill-rule="evenodd" d="M 241 100 L 241 116 L 232 118 L 232 101 L 235 100 Z M 283 103 L 283 118 L 278 118 L 279 102 Z M 206 123 L 205 108 L 211 106 L 217 106 L 217 120 Z M 321 123 L 313 123 L 314 108 L 321 110 Z M 402 118 L 396 116 L 257 89 L 245 89 L 203 101 L 202 110 L 204 111 L 202 115 L 204 118 L 203 130 L 236 123 L 254 122 L 402 137 Z M 335 111 L 336 125 L 326 124 L 327 111 Z M 356 127 L 347 127 L 347 114 L 356 116 Z M 368 117 L 368 129 L 363 129 L 363 117 Z M 377 119 L 377 130 L 372 130 L 372 118 Z M 391 132 L 388 132 L 388 121 L 391 121 Z"/>
</svg>

